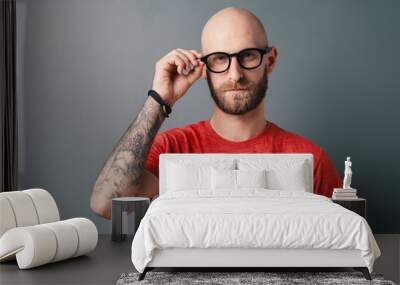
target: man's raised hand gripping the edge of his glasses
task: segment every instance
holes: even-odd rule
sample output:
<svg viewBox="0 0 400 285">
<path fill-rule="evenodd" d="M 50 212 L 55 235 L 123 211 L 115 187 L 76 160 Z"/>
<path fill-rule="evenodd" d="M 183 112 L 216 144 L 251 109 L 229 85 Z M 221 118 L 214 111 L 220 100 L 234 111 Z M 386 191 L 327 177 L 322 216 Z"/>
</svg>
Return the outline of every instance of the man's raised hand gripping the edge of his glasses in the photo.
<svg viewBox="0 0 400 285">
<path fill-rule="evenodd" d="M 170 106 L 200 78 L 204 63 L 196 50 L 174 49 L 156 63 L 153 87 Z"/>
</svg>

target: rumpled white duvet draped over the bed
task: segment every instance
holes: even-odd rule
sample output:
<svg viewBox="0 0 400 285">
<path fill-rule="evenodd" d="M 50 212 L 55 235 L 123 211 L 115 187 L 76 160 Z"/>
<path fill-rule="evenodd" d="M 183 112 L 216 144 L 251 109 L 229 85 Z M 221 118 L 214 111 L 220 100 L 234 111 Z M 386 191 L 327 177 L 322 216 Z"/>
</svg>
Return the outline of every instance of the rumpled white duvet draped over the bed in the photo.
<svg viewBox="0 0 400 285">
<path fill-rule="evenodd" d="M 381 254 L 367 221 L 330 199 L 257 188 L 155 199 L 133 239 L 133 265 L 143 272 L 154 249 L 169 247 L 358 249 L 370 272 Z"/>
</svg>

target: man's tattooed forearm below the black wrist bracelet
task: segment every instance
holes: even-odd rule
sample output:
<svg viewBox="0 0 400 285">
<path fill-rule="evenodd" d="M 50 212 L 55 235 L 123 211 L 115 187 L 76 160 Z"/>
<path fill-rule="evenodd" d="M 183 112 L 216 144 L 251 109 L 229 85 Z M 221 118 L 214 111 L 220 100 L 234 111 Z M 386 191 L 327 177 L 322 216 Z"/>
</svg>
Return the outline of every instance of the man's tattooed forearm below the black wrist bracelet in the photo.
<svg viewBox="0 0 400 285">
<path fill-rule="evenodd" d="M 160 105 L 148 97 L 96 179 L 91 208 L 97 214 L 109 217 L 112 198 L 140 191 L 147 155 L 164 119 Z"/>
</svg>

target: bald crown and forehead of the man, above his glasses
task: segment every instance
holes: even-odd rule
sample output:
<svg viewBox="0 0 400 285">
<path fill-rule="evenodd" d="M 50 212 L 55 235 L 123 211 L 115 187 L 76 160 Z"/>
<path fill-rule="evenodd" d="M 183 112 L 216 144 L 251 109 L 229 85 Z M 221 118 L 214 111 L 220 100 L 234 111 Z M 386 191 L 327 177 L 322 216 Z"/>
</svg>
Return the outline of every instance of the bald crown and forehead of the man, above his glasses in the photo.
<svg viewBox="0 0 400 285">
<path fill-rule="evenodd" d="M 234 52 L 248 47 L 265 48 L 267 34 L 262 22 L 248 10 L 228 7 L 214 14 L 201 34 L 203 54 Z"/>
</svg>

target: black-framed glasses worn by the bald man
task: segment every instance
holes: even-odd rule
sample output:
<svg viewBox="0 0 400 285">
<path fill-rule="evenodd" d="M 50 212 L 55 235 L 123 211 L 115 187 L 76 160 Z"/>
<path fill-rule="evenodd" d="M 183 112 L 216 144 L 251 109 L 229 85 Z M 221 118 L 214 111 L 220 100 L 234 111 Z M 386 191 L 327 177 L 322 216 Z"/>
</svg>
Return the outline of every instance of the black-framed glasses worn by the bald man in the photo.
<svg viewBox="0 0 400 285">
<path fill-rule="evenodd" d="M 272 47 L 246 48 L 237 53 L 213 52 L 200 58 L 207 69 L 214 73 L 222 73 L 229 69 L 232 57 L 236 56 L 239 65 L 244 69 L 254 69 L 261 65 L 264 54 L 270 52 Z"/>
</svg>

